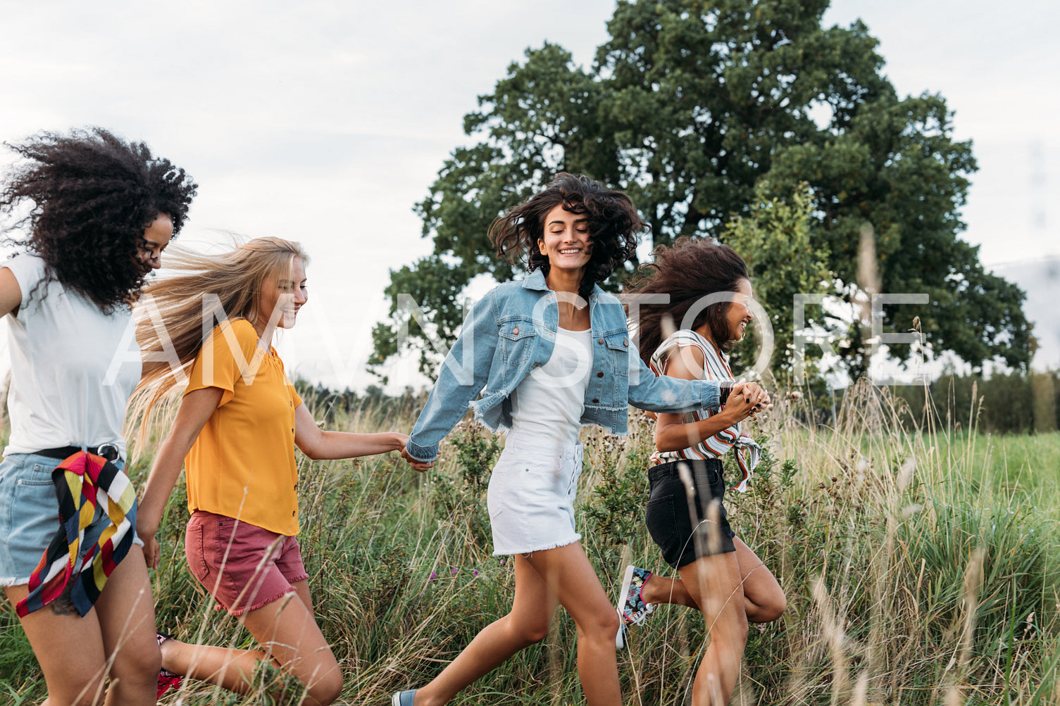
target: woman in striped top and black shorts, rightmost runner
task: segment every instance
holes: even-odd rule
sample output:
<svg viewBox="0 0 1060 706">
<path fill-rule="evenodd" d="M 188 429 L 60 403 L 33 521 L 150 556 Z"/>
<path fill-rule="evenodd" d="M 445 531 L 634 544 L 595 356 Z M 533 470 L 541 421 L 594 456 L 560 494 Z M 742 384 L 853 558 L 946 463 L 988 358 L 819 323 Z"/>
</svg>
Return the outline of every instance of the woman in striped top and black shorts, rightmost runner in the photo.
<svg viewBox="0 0 1060 706">
<path fill-rule="evenodd" d="M 647 307 L 635 322 L 646 363 L 657 375 L 731 384 L 727 353 L 754 318 L 743 260 L 725 245 L 678 241 L 673 248 L 656 250 L 648 269 L 650 278 L 634 290 L 668 294 L 670 302 Z M 735 449 L 743 472 L 735 489 L 745 491 L 761 449 L 741 422 L 768 405 L 768 396 L 723 399 L 726 404 L 717 412 L 658 414 L 647 523 L 681 578 L 653 578 L 630 566 L 619 597 L 624 624 L 642 622 L 656 603 L 702 611 L 710 646 L 692 687 L 696 705 L 728 703 L 740 675 L 748 621 L 776 620 L 787 606 L 776 578 L 732 532 L 722 505 L 721 459 Z M 619 647 L 622 641 L 624 631 Z"/>
</svg>

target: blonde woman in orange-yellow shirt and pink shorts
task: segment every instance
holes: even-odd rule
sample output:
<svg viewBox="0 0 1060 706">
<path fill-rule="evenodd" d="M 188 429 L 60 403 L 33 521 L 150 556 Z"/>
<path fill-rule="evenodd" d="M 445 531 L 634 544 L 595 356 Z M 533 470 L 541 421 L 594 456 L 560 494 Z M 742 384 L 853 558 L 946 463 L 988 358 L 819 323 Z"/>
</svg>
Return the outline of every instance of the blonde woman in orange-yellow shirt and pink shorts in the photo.
<svg viewBox="0 0 1060 706">
<path fill-rule="evenodd" d="M 149 420 L 159 403 L 182 398 L 151 471 L 137 530 L 147 564 L 157 566 L 155 535 L 186 466 L 189 567 L 263 648 L 159 636 L 165 670 L 247 693 L 258 663 L 271 659 L 301 681 L 307 703 L 330 704 L 342 676 L 317 625 L 296 539 L 295 446 L 313 459 L 350 458 L 403 451 L 408 437 L 321 430 L 287 380 L 271 338 L 277 328 L 295 325 L 308 299 L 307 261 L 299 244 L 276 237 L 219 257 L 178 252 L 171 262 L 177 275 L 146 290 L 144 305 L 157 308 L 143 317 L 141 340 L 155 355 L 145 355 L 134 414 Z M 204 339 L 205 316 L 222 323 Z M 184 374 L 187 385 L 178 382 Z"/>
</svg>

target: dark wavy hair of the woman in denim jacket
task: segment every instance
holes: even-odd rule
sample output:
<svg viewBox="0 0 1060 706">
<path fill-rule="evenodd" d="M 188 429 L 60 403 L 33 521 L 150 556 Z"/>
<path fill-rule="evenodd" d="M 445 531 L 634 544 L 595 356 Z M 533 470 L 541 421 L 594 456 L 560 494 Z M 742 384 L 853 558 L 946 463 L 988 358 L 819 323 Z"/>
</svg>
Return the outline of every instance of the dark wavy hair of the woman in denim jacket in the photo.
<svg viewBox="0 0 1060 706">
<path fill-rule="evenodd" d="M 561 205 L 571 213 L 588 216 L 593 254 L 579 286 L 579 295 L 587 300 L 593 285 L 633 257 L 637 235 L 647 230 L 633 201 L 622 192 L 581 174 L 561 172 L 544 191 L 494 220 L 490 241 L 498 257 L 513 264 L 525 261 L 529 271 L 540 267 L 547 277 L 548 255 L 538 249 L 537 241 L 544 237 L 545 217 Z"/>
</svg>

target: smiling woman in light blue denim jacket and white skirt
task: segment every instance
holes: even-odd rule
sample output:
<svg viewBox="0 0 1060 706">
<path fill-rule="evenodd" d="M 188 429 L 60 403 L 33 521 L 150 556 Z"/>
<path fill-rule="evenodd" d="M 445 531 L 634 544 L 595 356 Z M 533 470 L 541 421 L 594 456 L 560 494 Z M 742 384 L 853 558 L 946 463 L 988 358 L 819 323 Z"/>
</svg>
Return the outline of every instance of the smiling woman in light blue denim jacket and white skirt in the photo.
<svg viewBox="0 0 1060 706">
<path fill-rule="evenodd" d="M 578 673 L 587 703 L 621 703 L 618 615 L 575 531 L 578 429 L 593 423 L 625 434 L 630 404 L 691 411 L 718 409 L 726 398 L 739 405 L 767 401 L 755 385 L 734 392 L 717 382 L 656 377 L 640 360 L 621 303 L 597 282 L 629 260 L 643 229 L 625 194 L 570 174 L 559 175 L 491 229 L 498 254 L 526 255 L 530 273 L 475 305 L 407 449 L 432 461 L 469 406 L 488 427 L 509 434 L 487 502 L 494 553 L 515 557 L 515 599 L 511 612 L 484 628 L 430 684 L 395 693 L 394 706 L 448 702 L 544 639 L 558 604 L 578 628 Z"/>
</svg>

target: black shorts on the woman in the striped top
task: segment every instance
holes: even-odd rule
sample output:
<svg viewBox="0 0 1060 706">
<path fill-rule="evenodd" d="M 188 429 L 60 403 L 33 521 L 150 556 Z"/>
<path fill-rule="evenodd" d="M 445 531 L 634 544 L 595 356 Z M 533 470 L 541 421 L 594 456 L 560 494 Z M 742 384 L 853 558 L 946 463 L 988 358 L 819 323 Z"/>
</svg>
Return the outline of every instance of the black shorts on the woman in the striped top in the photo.
<svg viewBox="0 0 1060 706">
<path fill-rule="evenodd" d="M 688 497 L 677 472 L 678 464 L 687 464 L 689 469 L 695 489 L 694 498 Z M 667 564 L 679 568 L 700 557 L 736 551 L 732 544 L 736 534 L 729 527 L 725 506 L 722 505 L 725 481 L 722 480 L 722 462 L 719 459 L 661 463 L 648 471 L 648 479 L 651 493 L 644 520 Z M 719 510 L 717 525 L 708 520 L 707 510 L 713 500 L 717 500 Z M 711 551 L 711 548 L 716 550 Z"/>
</svg>

